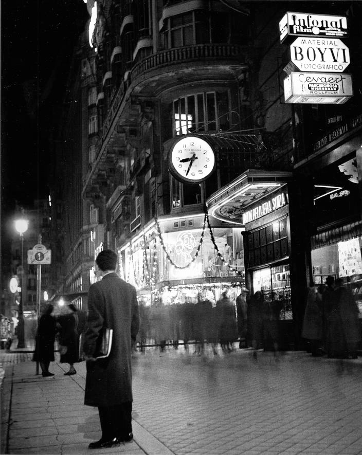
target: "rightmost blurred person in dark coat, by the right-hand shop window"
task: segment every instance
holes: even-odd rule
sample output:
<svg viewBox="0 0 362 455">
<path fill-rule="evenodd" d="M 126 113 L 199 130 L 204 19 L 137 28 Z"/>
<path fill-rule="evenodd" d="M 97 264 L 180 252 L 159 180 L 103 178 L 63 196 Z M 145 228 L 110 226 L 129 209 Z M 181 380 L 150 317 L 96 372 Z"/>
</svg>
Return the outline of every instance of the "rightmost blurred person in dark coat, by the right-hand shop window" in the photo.
<svg viewBox="0 0 362 455">
<path fill-rule="evenodd" d="M 339 313 L 340 344 L 335 345 L 334 355 L 342 358 L 357 358 L 357 344 L 361 340 L 359 310 L 351 290 L 339 278 L 335 282 L 335 310 Z"/>
</svg>

